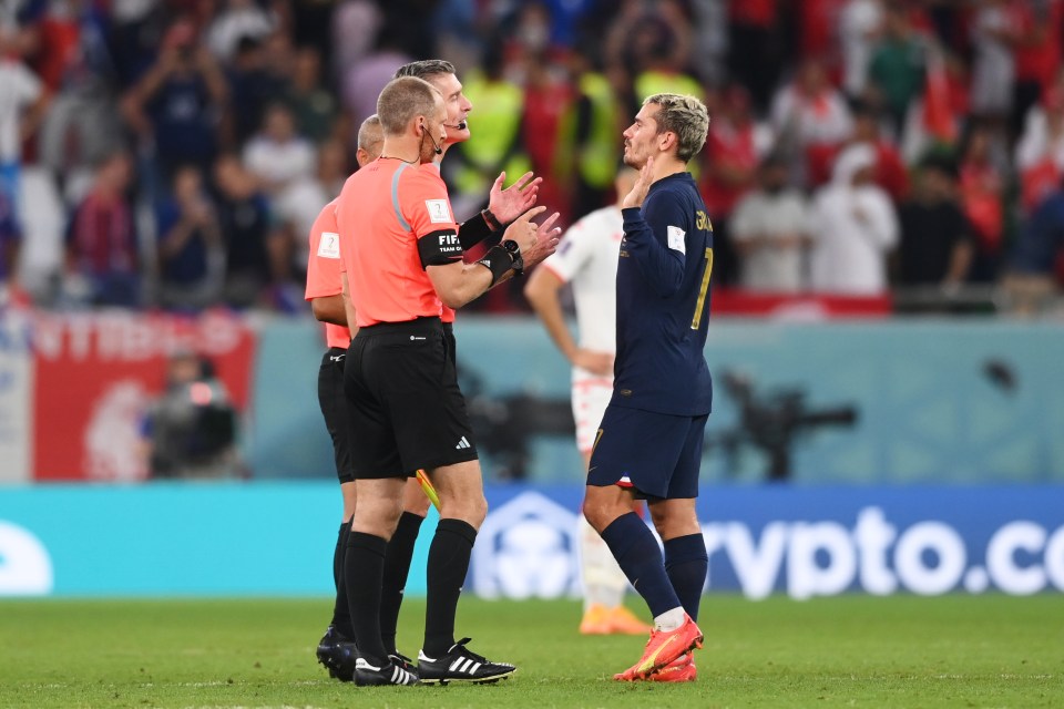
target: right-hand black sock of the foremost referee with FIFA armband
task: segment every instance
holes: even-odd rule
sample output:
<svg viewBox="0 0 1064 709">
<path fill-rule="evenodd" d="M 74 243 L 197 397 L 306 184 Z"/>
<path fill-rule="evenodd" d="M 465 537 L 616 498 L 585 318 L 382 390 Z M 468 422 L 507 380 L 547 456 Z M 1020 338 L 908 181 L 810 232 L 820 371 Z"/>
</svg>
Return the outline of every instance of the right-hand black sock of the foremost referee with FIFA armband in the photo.
<svg viewBox="0 0 1064 709">
<path fill-rule="evenodd" d="M 475 541 L 477 530 L 462 520 L 440 520 L 436 527 L 429 547 L 428 607 L 422 647 L 433 659 L 447 655 L 454 645 L 454 612 Z"/>
</svg>

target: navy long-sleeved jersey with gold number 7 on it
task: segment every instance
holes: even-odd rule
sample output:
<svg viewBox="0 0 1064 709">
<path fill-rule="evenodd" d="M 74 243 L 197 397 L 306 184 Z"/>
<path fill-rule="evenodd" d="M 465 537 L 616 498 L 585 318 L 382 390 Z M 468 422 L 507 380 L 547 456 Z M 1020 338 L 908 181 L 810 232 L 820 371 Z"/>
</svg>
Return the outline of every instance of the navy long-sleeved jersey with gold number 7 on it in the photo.
<svg viewBox="0 0 1064 709">
<path fill-rule="evenodd" d="M 706 205 L 690 173 L 677 173 L 651 185 L 642 209 L 623 213 L 611 405 L 709 413 L 713 380 L 703 349 L 713 226 Z"/>
</svg>

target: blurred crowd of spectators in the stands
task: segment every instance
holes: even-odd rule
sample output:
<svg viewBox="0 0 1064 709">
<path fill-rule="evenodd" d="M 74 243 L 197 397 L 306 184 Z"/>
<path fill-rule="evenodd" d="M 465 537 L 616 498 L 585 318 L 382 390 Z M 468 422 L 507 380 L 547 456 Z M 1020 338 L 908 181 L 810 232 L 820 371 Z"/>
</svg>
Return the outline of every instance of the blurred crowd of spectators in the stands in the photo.
<svg viewBox="0 0 1064 709">
<path fill-rule="evenodd" d="M 359 123 L 444 58 L 474 106 L 460 219 L 502 169 L 564 224 L 610 204 L 642 99 L 692 93 L 716 287 L 1037 310 L 1064 284 L 1062 47 L 1064 0 L 0 0 L 0 282 L 305 312 Z"/>
</svg>

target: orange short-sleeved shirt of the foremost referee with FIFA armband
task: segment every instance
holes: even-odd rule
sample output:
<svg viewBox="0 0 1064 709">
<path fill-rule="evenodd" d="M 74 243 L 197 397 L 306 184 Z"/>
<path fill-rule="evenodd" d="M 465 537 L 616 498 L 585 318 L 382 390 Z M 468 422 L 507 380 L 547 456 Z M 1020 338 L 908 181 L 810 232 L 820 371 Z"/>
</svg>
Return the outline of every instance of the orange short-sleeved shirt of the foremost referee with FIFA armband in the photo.
<svg viewBox="0 0 1064 709">
<path fill-rule="evenodd" d="M 437 169 L 378 158 L 348 177 L 337 198 L 340 257 L 359 327 L 443 312 L 421 266 L 419 239 L 461 259 L 458 224 Z"/>
</svg>

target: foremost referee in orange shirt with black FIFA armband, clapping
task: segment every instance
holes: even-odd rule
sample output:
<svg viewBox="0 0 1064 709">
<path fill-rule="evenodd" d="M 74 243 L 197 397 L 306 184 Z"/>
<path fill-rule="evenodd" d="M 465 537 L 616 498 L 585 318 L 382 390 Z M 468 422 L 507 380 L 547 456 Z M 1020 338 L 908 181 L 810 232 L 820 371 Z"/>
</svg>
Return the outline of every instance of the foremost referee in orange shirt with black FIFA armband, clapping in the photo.
<svg viewBox="0 0 1064 709">
<path fill-rule="evenodd" d="M 337 201 L 348 322 L 358 333 L 345 366 L 358 514 L 345 556 L 360 685 L 488 682 L 514 666 L 454 640 L 454 614 L 477 531 L 487 515 L 475 441 L 440 320 L 492 286 L 554 251 L 557 215 L 536 226 L 535 207 L 473 264 L 462 260 L 447 187 L 431 166 L 446 137 L 443 97 L 413 76 L 390 82 L 377 103 L 381 156 L 355 173 Z M 388 657 L 380 594 L 388 540 L 402 512 L 403 485 L 428 472 L 440 497 L 429 549 L 424 643 L 417 674 Z"/>
</svg>

